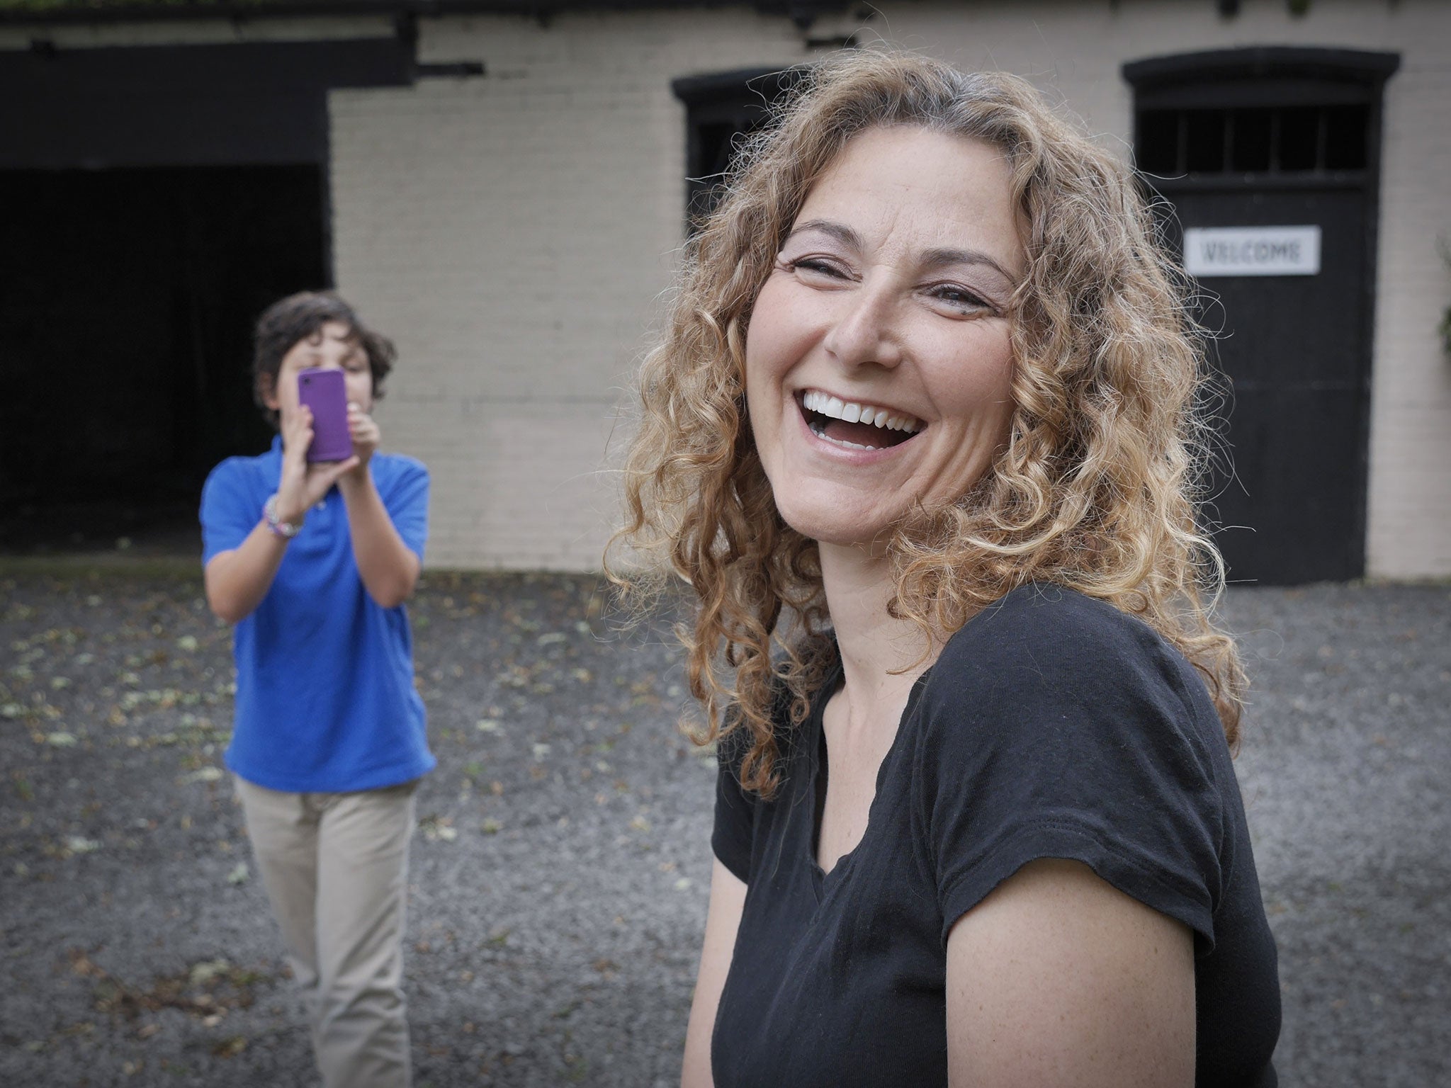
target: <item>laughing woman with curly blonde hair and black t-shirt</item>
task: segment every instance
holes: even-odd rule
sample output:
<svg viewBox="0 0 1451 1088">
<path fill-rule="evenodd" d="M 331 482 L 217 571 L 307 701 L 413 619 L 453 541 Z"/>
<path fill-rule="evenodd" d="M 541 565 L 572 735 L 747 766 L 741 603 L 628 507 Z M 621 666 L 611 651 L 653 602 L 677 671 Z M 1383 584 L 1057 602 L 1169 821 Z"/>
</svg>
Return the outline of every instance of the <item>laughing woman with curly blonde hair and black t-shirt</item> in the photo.
<svg viewBox="0 0 1451 1088">
<path fill-rule="evenodd" d="M 685 1085 L 1275 1082 L 1177 286 L 1013 77 L 858 52 L 746 149 L 620 534 L 721 760 Z"/>
</svg>

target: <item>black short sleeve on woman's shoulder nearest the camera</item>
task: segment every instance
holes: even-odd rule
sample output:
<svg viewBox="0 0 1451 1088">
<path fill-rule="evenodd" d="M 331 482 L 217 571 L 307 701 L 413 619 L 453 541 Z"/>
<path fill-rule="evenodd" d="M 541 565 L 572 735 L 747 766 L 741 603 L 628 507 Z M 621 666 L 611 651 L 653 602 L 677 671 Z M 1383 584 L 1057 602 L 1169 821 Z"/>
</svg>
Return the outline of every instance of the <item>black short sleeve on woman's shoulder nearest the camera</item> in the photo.
<svg viewBox="0 0 1451 1088">
<path fill-rule="evenodd" d="M 1209 746 L 1223 734 L 1151 628 L 1068 590 L 1017 590 L 949 643 L 923 702 L 943 941 L 1001 881 L 1056 857 L 1213 947 L 1225 831 Z"/>
</svg>

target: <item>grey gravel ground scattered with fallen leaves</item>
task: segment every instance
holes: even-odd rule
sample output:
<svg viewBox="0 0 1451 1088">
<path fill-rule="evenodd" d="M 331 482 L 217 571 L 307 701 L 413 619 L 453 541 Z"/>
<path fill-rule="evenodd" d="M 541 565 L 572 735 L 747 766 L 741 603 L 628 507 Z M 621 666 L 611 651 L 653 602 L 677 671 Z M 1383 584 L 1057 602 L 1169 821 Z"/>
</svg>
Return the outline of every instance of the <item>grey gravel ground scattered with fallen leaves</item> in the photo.
<svg viewBox="0 0 1451 1088">
<path fill-rule="evenodd" d="M 665 625 L 611 637 L 596 590 L 431 573 L 412 605 L 440 760 L 411 870 L 419 1088 L 678 1075 L 714 769 L 675 730 Z M 1226 601 L 1286 1085 L 1451 1082 L 1448 605 Z M 0 567 L 0 1084 L 313 1084 L 229 722 L 229 634 L 189 570 Z"/>
</svg>

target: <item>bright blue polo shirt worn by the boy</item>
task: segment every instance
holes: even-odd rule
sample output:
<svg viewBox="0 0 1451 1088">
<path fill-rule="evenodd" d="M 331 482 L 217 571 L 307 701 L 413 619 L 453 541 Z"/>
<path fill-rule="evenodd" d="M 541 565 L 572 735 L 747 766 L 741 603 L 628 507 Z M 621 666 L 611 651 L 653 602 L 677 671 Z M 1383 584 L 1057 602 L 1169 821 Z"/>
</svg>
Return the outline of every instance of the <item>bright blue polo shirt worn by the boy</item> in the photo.
<svg viewBox="0 0 1451 1088">
<path fill-rule="evenodd" d="M 369 467 L 399 537 L 422 559 L 428 470 L 398 454 L 373 454 Z M 202 489 L 203 566 L 241 547 L 280 480 L 280 438 L 261 457 L 229 457 L 212 470 Z M 267 596 L 237 625 L 234 653 L 226 766 L 248 782 L 340 794 L 434 769 L 408 612 L 382 608 L 363 586 L 337 487 L 308 511 Z"/>
</svg>

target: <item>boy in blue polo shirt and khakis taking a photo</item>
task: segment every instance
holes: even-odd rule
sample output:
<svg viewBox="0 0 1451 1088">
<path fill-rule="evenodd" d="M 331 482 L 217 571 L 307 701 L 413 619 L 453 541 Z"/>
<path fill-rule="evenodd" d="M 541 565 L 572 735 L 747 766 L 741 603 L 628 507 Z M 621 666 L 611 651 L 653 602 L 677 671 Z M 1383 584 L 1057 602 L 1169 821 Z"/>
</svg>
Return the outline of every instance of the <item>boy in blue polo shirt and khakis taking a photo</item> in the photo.
<svg viewBox="0 0 1451 1088">
<path fill-rule="evenodd" d="M 202 490 L 206 599 L 237 625 L 226 766 L 308 995 L 328 1088 L 406 1088 L 402 936 L 414 788 L 435 765 L 403 601 L 428 535 L 428 470 L 377 453 L 392 342 L 329 293 L 257 321 L 254 389 L 279 429 Z M 353 456 L 309 463 L 297 373 L 341 368 Z"/>
</svg>

